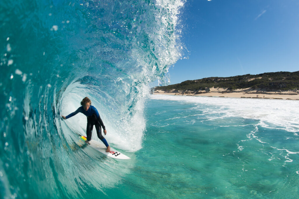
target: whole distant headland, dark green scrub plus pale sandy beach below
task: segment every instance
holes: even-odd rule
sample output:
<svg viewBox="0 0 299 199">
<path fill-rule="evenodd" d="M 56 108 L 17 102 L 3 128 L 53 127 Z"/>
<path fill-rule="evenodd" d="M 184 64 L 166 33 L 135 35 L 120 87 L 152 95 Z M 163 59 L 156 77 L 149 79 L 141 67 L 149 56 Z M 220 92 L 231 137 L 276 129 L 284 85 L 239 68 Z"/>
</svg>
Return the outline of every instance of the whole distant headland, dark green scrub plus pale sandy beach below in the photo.
<svg viewBox="0 0 299 199">
<path fill-rule="evenodd" d="M 152 94 L 299 100 L 299 71 L 209 77 L 152 88 Z"/>
</svg>

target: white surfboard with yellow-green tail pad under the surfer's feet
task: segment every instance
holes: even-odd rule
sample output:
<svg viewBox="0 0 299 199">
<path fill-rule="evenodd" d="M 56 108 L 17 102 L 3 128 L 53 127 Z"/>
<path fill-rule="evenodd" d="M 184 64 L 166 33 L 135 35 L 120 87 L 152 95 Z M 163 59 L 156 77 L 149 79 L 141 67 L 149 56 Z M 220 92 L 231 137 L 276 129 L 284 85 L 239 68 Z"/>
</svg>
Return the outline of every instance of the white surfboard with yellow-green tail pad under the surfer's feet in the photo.
<svg viewBox="0 0 299 199">
<path fill-rule="evenodd" d="M 84 141 L 84 143 L 85 143 L 85 141 L 86 141 L 85 136 L 80 136 L 79 138 L 81 141 Z M 107 148 L 95 140 L 90 140 L 89 143 L 90 143 L 89 146 L 91 146 L 92 148 L 94 148 L 97 151 L 100 151 L 102 154 L 107 155 L 108 157 L 112 157 L 115 159 L 121 159 L 121 160 L 131 159 L 130 157 L 126 156 L 123 153 L 120 153 L 119 151 L 116 151 L 115 149 L 112 149 L 111 147 L 110 147 L 110 152 L 106 152 Z"/>
</svg>

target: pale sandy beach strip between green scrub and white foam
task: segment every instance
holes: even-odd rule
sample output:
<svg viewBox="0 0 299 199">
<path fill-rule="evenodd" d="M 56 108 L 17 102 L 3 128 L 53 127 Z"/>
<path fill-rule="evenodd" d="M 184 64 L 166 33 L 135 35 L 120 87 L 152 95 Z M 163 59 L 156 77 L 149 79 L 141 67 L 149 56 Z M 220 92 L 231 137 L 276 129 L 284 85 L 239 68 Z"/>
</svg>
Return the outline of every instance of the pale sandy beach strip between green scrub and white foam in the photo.
<svg viewBox="0 0 299 199">
<path fill-rule="evenodd" d="M 282 99 L 282 100 L 299 100 L 299 95 L 296 91 L 277 91 L 277 92 L 262 92 L 251 90 L 250 88 L 237 89 L 227 91 L 223 88 L 210 88 L 210 92 L 197 91 L 196 93 L 190 91 L 161 91 L 156 90 L 154 95 L 187 95 L 187 96 L 208 96 L 208 97 L 241 97 L 241 98 L 264 98 L 264 99 Z"/>
</svg>

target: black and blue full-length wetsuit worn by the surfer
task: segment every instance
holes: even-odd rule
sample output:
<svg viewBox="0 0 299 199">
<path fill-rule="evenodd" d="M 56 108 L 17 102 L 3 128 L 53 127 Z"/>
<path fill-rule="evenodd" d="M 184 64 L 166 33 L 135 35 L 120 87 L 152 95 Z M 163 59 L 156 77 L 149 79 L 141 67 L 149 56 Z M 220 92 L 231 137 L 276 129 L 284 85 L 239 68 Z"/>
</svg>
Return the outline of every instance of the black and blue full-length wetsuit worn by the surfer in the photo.
<svg viewBox="0 0 299 199">
<path fill-rule="evenodd" d="M 101 126 L 103 127 L 103 130 L 106 130 L 106 128 L 103 124 L 100 114 L 97 112 L 97 109 L 94 106 L 90 105 L 89 109 L 85 111 L 83 106 L 80 106 L 75 112 L 69 114 L 65 118 L 68 119 L 70 117 L 73 117 L 77 113 L 83 113 L 87 117 L 87 127 L 86 127 L 87 141 L 91 140 L 92 129 L 93 126 L 95 125 L 95 128 L 97 130 L 97 137 L 105 144 L 106 147 L 108 147 L 109 145 L 106 139 L 102 135 Z"/>
</svg>

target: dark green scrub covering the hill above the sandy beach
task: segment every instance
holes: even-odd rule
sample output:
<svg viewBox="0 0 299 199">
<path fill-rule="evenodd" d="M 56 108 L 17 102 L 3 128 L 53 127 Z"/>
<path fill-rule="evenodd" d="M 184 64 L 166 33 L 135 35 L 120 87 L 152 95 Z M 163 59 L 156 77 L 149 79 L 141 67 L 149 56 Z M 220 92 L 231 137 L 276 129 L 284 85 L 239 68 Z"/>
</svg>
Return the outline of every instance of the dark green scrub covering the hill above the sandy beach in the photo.
<svg viewBox="0 0 299 199">
<path fill-rule="evenodd" d="M 157 86 L 153 90 L 166 92 L 176 91 L 203 91 L 210 88 L 225 88 L 227 91 L 251 88 L 257 91 L 289 91 L 299 90 L 299 71 L 272 72 L 257 75 L 238 75 L 231 77 L 208 77 L 197 80 L 187 80 L 179 84 Z"/>
</svg>

